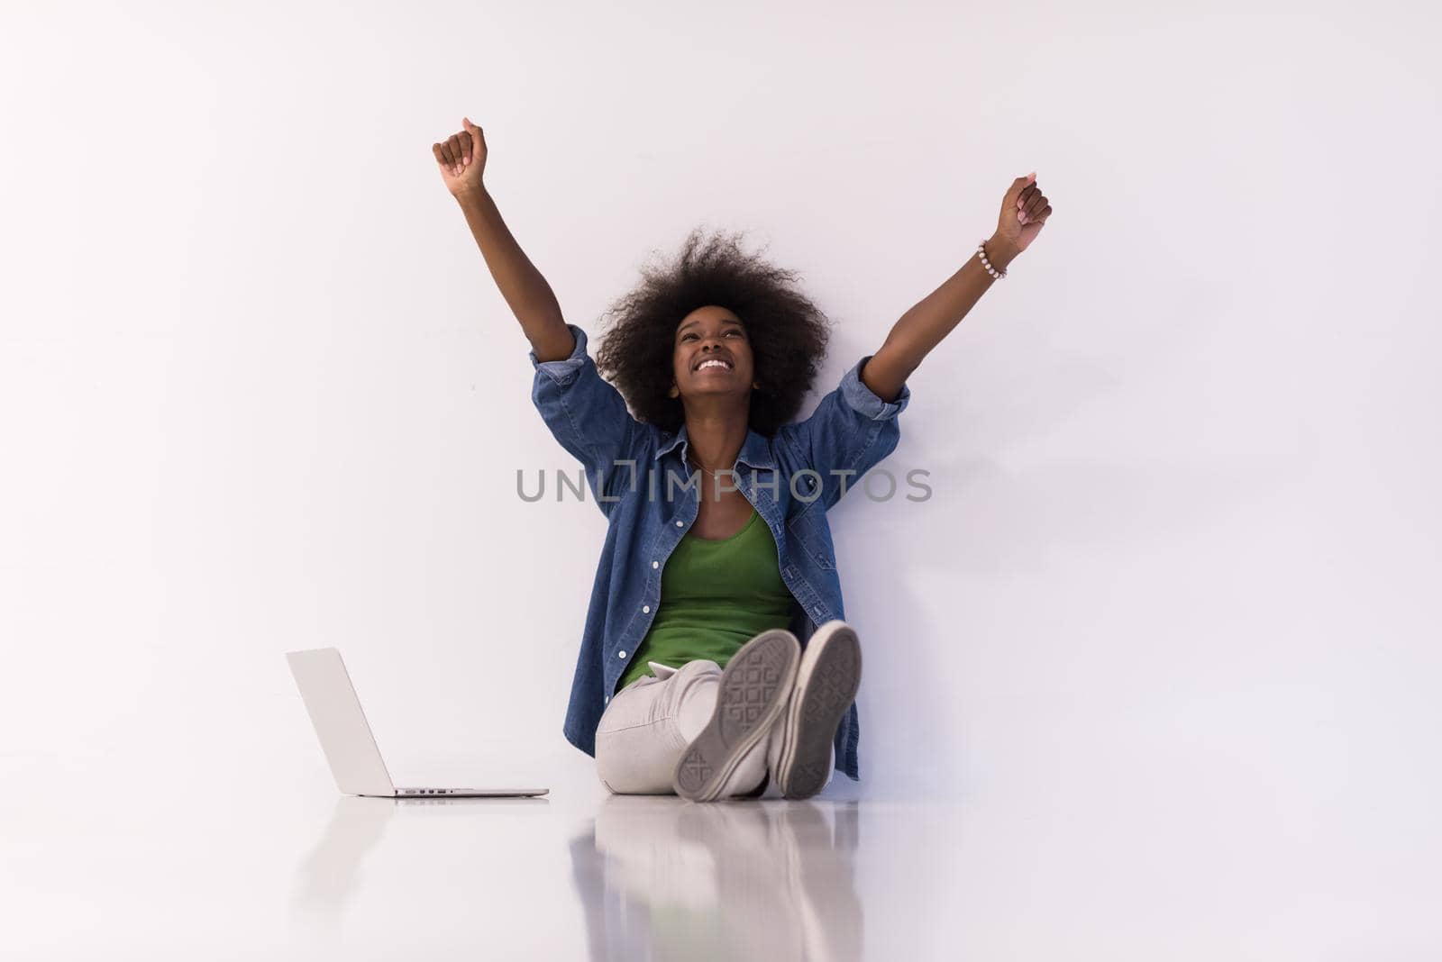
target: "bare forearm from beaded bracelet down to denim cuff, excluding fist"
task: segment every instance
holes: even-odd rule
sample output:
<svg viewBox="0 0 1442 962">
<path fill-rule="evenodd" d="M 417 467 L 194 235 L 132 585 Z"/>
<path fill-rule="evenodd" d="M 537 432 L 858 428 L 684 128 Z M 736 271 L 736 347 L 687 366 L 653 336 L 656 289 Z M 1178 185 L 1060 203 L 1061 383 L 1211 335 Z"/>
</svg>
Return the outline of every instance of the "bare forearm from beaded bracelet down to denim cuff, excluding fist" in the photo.
<svg viewBox="0 0 1442 962">
<path fill-rule="evenodd" d="M 986 259 L 998 271 L 1005 271 L 1017 252 L 992 236 L 986 240 Z M 982 266 L 975 253 L 906 314 L 887 334 L 885 343 L 862 369 L 862 382 L 883 400 L 895 400 L 906 379 L 921 360 L 962 323 L 996 279 Z"/>
</svg>

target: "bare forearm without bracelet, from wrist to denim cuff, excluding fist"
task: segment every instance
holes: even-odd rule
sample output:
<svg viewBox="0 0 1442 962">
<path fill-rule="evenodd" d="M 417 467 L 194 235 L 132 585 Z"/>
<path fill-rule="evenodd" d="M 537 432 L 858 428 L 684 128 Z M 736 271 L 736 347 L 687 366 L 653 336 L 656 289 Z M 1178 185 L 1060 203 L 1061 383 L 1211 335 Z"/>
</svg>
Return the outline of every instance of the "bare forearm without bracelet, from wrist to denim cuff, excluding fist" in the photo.
<svg viewBox="0 0 1442 962">
<path fill-rule="evenodd" d="M 466 215 L 466 223 L 490 268 L 490 277 L 506 298 L 510 313 L 521 321 L 536 359 L 547 361 L 570 356 L 575 340 L 565 328 L 555 292 L 516 243 L 490 192 L 485 187 L 467 190 L 457 194 L 456 202 Z"/>
</svg>

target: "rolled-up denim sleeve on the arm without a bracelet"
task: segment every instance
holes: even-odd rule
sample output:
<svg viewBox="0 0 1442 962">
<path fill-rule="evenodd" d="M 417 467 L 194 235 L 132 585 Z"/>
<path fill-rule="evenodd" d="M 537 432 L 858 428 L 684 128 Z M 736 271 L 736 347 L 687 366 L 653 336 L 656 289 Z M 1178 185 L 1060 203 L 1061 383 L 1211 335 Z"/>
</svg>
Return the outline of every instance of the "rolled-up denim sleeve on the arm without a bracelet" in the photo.
<svg viewBox="0 0 1442 962">
<path fill-rule="evenodd" d="M 534 350 L 528 351 L 535 369 L 531 400 L 552 436 L 585 468 L 591 493 L 601 511 L 610 514 L 610 504 L 600 501 L 597 480 L 603 480 L 609 497 L 632 484 L 645 425 L 632 416 L 622 393 L 596 369 L 585 350 L 585 331 L 575 324 L 565 327 L 575 337 L 570 357 L 542 361 Z"/>
</svg>

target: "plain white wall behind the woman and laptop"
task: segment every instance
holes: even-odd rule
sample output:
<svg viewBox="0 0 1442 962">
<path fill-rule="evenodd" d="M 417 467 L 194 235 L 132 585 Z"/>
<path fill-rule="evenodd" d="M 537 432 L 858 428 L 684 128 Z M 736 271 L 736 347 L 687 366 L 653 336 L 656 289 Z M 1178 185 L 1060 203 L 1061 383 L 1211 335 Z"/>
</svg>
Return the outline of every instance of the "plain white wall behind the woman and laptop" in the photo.
<svg viewBox="0 0 1442 962">
<path fill-rule="evenodd" d="M 1436 27 L 1386 3 L 7 6 L 12 841 L 40 786 L 329 799 L 281 657 L 320 645 L 399 778 L 600 792 L 561 720 L 604 518 L 516 495 L 574 462 L 431 157 L 466 114 L 593 341 L 652 252 L 744 229 L 836 321 L 822 390 L 1035 170 L 1051 223 L 913 374 L 883 464 L 932 500 L 831 514 L 865 647 L 838 796 L 1005 811 L 1035 851 L 1083 812 L 1099 855 L 1125 835 L 1162 866 L 1159 832 L 1435 900 Z"/>
</svg>

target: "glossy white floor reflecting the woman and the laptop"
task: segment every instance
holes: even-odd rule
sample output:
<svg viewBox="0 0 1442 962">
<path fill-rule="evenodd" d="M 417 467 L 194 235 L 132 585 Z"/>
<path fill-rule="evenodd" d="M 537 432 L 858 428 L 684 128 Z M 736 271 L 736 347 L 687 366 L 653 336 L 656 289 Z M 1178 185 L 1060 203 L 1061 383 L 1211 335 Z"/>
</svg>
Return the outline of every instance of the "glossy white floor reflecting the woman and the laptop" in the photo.
<svg viewBox="0 0 1442 962">
<path fill-rule="evenodd" d="M 392 802 L 317 782 L 7 778 L 0 955 L 1442 958 L 1438 837 L 1405 804 L 1341 825 L 1289 817 L 1256 782 L 1099 778 L 945 805 L 691 805 L 585 783 Z"/>
</svg>

